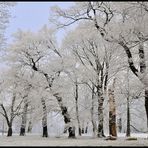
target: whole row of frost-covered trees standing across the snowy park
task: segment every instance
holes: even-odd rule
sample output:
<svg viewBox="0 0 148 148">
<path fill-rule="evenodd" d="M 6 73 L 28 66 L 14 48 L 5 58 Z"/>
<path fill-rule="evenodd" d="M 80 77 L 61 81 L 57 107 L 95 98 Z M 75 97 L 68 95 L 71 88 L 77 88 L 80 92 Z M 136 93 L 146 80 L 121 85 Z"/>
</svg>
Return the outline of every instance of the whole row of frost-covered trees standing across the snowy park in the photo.
<svg viewBox="0 0 148 148">
<path fill-rule="evenodd" d="M 20 135 L 25 135 L 32 115 L 42 120 L 43 137 L 48 137 L 47 115 L 54 111 L 63 116 L 70 138 L 75 138 L 76 125 L 81 135 L 83 120 L 91 121 L 94 137 L 105 137 L 106 117 L 109 134 L 117 137 L 116 115 L 125 102 L 130 136 L 129 100 L 144 97 L 148 115 L 147 10 L 145 2 L 78 2 L 66 10 L 56 6 L 50 17 L 56 28 L 77 24 L 61 46 L 56 29 L 46 25 L 37 32 L 18 30 L 5 49 L 8 68 L 1 77 L 0 113 L 8 136 L 17 116 Z"/>
</svg>

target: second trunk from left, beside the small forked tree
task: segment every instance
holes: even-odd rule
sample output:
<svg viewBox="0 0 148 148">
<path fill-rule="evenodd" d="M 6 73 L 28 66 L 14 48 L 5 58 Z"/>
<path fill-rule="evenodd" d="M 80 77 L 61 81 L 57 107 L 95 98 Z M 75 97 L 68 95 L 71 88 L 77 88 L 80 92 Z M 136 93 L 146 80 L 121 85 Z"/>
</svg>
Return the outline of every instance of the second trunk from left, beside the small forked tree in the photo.
<svg viewBox="0 0 148 148">
<path fill-rule="evenodd" d="M 25 128 L 26 128 L 26 123 L 27 123 L 27 108 L 28 108 L 28 103 L 26 102 L 27 100 L 24 101 L 24 109 L 23 109 L 23 115 L 22 115 L 22 124 L 21 124 L 21 129 L 20 129 L 20 136 L 25 136 Z"/>
</svg>

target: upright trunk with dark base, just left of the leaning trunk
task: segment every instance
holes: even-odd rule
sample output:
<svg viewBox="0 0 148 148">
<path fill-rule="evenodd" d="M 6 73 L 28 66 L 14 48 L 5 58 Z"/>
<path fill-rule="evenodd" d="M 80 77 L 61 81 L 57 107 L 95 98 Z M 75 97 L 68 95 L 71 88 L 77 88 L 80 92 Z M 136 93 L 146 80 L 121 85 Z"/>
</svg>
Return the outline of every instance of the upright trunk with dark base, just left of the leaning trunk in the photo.
<svg viewBox="0 0 148 148">
<path fill-rule="evenodd" d="M 42 117 L 42 127 L 43 127 L 43 137 L 48 137 L 48 129 L 47 129 L 47 109 L 45 100 L 41 98 L 42 106 L 43 106 L 43 117 Z"/>
</svg>

